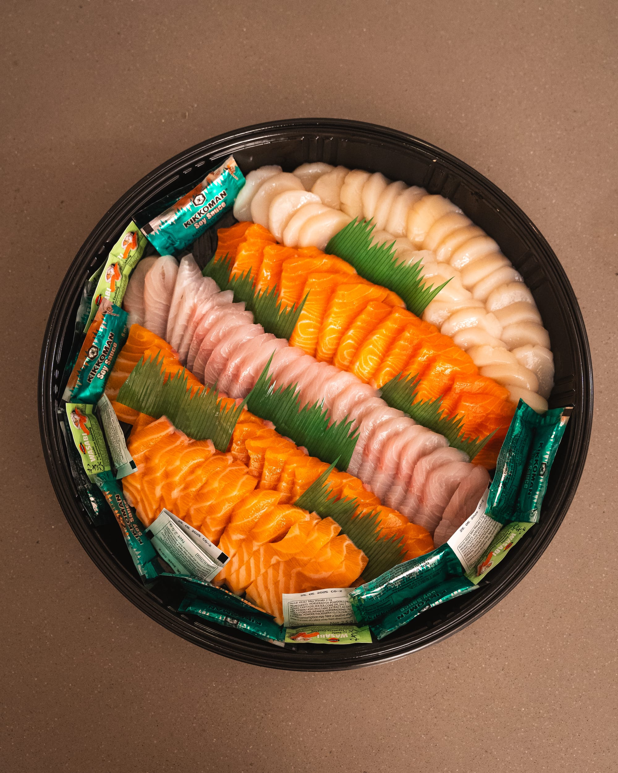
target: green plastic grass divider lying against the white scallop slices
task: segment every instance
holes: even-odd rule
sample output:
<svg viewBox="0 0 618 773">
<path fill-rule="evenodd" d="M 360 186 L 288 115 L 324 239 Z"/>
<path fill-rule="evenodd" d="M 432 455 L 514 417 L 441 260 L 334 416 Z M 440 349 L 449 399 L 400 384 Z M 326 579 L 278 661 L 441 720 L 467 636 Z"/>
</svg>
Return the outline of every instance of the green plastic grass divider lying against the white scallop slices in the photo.
<svg viewBox="0 0 618 773">
<path fill-rule="evenodd" d="M 421 316 L 450 279 L 436 288 L 426 285 L 421 272 L 422 261 L 411 266 L 397 261 L 394 242 L 372 245 L 374 228 L 372 220 L 352 220 L 335 233 L 325 251 L 348 261 L 365 279 L 395 291 L 410 312 Z"/>
</svg>

